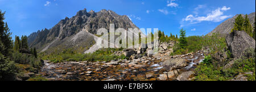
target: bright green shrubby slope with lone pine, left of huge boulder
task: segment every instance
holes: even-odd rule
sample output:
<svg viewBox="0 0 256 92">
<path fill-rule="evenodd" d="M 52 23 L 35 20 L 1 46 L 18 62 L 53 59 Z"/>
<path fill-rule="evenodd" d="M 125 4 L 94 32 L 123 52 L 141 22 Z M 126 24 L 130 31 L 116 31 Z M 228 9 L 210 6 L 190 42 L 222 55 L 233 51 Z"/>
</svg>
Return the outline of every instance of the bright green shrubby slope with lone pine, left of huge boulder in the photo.
<svg viewBox="0 0 256 92">
<path fill-rule="evenodd" d="M 184 35 L 185 31 L 183 29 L 181 30 L 182 35 Z M 226 40 L 218 33 L 213 33 L 212 36 L 180 37 L 179 44 L 174 45 L 174 52 L 172 52 L 171 55 L 187 54 L 202 49 L 210 49 L 211 54 L 214 54 L 225 47 Z"/>
</svg>

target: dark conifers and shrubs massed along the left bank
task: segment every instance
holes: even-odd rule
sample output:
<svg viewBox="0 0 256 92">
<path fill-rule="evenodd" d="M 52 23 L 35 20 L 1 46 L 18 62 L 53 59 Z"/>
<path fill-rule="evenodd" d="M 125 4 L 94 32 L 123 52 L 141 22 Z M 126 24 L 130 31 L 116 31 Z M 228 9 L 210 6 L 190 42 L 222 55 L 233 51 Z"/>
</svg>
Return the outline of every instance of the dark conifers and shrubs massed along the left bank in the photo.
<svg viewBox="0 0 256 92">
<path fill-rule="evenodd" d="M 19 67 L 23 65 L 30 65 L 29 72 L 38 72 L 42 62 L 28 50 L 27 36 L 22 36 L 21 40 L 16 36 L 13 44 L 10 29 L 3 22 L 4 15 L 0 10 L 0 80 L 15 80 L 15 76 L 26 71 Z"/>
</svg>

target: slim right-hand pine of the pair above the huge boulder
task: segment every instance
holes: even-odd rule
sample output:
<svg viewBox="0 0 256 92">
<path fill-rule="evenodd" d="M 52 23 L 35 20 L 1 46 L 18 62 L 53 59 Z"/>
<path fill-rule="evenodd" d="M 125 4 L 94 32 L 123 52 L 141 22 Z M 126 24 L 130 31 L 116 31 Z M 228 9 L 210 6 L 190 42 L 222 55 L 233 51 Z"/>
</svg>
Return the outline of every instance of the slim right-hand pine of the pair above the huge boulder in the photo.
<svg viewBox="0 0 256 92">
<path fill-rule="evenodd" d="M 245 26 L 245 32 L 249 34 L 249 36 L 253 37 L 253 27 L 251 27 L 250 19 L 247 14 L 245 15 L 244 26 Z"/>
</svg>

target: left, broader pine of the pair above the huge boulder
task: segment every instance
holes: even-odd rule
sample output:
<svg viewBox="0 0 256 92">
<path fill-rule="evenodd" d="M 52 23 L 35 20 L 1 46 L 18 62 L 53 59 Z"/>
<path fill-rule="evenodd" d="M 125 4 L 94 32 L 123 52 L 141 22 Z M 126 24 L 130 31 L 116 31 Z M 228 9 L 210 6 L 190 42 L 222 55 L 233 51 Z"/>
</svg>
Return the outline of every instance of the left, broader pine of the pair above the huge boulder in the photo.
<svg viewBox="0 0 256 92">
<path fill-rule="evenodd" d="M 244 19 L 241 14 L 238 15 L 237 18 L 235 19 L 234 28 L 232 29 L 231 32 L 233 32 L 234 30 L 245 30 Z"/>
</svg>

